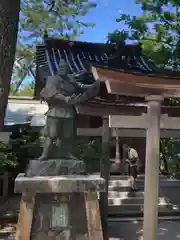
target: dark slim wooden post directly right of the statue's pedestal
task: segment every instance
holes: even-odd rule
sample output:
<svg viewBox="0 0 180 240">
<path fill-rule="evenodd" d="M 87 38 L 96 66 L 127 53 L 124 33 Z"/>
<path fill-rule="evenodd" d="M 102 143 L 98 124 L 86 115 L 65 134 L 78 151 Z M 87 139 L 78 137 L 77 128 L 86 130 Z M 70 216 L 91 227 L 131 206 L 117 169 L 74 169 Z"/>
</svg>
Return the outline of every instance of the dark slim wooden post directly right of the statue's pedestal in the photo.
<svg viewBox="0 0 180 240">
<path fill-rule="evenodd" d="M 105 192 L 100 193 L 100 211 L 101 223 L 103 229 L 104 240 L 108 240 L 108 183 L 109 183 L 109 139 L 110 128 L 109 118 L 103 118 L 102 126 L 102 156 L 100 162 L 101 177 L 105 179 Z"/>
</svg>

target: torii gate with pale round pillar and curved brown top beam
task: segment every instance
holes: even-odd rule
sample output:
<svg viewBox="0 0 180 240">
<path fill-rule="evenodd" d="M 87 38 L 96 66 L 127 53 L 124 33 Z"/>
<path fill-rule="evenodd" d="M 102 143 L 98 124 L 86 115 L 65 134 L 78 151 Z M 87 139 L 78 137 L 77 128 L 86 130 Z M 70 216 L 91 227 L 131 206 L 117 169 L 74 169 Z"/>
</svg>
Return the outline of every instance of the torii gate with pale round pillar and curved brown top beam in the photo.
<svg viewBox="0 0 180 240">
<path fill-rule="evenodd" d="M 94 78 L 106 84 L 109 94 L 143 97 L 147 101 L 147 115 L 130 116 L 122 121 L 123 116 L 110 116 L 110 127 L 145 128 L 146 131 L 146 169 L 144 196 L 144 234 L 143 239 L 157 239 L 158 192 L 159 192 L 159 153 L 160 126 L 177 128 L 177 118 L 161 116 L 161 103 L 164 98 L 180 97 L 180 81 L 175 77 L 162 75 L 147 76 L 132 73 L 114 72 L 108 69 L 92 67 Z M 134 120 L 134 121 L 133 121 Z M 137 127 L 138 125 L 138 127 Z"/>
</svg>

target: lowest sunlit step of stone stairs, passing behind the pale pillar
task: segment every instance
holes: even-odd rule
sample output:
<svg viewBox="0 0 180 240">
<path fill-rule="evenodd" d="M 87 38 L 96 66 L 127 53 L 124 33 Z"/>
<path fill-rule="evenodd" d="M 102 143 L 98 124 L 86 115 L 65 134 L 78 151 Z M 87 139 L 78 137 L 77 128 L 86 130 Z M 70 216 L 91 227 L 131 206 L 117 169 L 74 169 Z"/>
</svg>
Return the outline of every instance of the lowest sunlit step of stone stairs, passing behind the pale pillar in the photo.
<svg viewBox="0 0 180 240">
<path fill-rule="evenodd" d="M 169 200 L 165 197 L 159 197 L 159 204 L 167 204 Z M 108 197 L 109 206 L 120 206 L 120 205 L 132 205 L 132 204 L 144 204 L 143 197 Z"/>
</svg>

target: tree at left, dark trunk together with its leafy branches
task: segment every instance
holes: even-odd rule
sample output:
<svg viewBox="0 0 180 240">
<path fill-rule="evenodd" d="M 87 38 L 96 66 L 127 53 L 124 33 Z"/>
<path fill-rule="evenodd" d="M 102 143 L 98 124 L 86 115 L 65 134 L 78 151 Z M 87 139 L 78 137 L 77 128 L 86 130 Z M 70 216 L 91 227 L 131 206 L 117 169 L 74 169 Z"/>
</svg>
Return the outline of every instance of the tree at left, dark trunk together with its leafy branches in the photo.
<svg viewBox="0 0 180 240">
<path fill-rule="evenodd" d="M 14 0 L 13 4 L 10 0 L 0 1 L 0 131 L 4 127 L 18 24 L 18 48 L 13 74 L 19 76 L 15 79 L 15 90 L 18 89 L 23 76 L 33 70 L 33 47 L 41 41 L 45 30 L 49 36 L 66 38 L 82 34 L 81 29 L 90 25 L 81 22 L 79 16 L 84 16 L 89 8 L 94 6 L 95 4 L 89 4 L 87 0 Z M 27 46 L 28 51 L 25 51 Z"/>
</svg>

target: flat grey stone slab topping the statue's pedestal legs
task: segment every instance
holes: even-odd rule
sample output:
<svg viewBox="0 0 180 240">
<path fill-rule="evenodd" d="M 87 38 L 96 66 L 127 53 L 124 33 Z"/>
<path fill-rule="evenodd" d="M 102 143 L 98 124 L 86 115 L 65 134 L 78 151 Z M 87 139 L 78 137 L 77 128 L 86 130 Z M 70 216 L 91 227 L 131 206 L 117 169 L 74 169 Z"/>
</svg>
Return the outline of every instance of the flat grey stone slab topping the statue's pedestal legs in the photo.
<svg viewBox="0 0 180 240">
<path fill-rule="evenodd" d="M 105 191 L 104 179 L 99 176 L 35 176 L 19 174 L 15 180 L 15 193 L 72 193 L 86 191 Z"/>
</svg>

